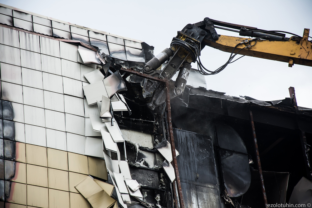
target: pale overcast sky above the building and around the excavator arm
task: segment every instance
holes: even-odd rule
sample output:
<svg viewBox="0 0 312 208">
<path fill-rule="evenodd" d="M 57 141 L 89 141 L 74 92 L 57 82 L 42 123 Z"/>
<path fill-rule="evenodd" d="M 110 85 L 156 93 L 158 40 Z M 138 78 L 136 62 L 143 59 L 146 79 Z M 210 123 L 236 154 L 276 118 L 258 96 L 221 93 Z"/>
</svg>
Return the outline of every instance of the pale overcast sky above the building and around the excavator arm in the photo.
<svg viewBox="0 0 312 208">
<path fill-rule="evenodd" d="M 312 29 L 312 0 L 0 2 L 80 26 L 144 41 L 155 47 L 155 55 L 170 47 L 177 31 L 182 30 L 188 23 L 202 21 L 204 17 L 264 30 L 288 31 L 300 36 L 304 28 Z M 217 33 L 238 36 L 236 33 L 219 29 Z M 205 47 L 201 60 L 206 68 L 215 70 L 223 65 L 229 56 L 229 53 Z M 192 66 L 197 68 L 195 64 Z M 290 97 L 288 88 L 292 86 L 295 87 L 298 105 L 308 108 L 312 108 L 311 79 L 312 67 L 294 65 L 290 68 L 285 62 L 247 56 L 228 65 L 217 75 L 206 76 L 207 89 L 237 97 L 247 95 L 259 100 Z"/>
</svg>

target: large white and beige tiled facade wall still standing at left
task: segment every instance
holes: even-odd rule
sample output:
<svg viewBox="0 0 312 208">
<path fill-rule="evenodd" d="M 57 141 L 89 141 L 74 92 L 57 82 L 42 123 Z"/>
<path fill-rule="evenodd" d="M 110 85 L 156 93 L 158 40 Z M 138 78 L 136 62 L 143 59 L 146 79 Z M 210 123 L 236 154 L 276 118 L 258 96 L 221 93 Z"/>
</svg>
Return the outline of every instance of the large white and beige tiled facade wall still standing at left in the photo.
<svg viewBox="0 0 312 208">
<path fill-rule="evenodd" d="M 82 77 L 95 68 L 77 63 L 77 46 L 6 27 L 0 34 L 0 200 L 90 207 L 74 186 L 106 172 L 104 160 L 83 155 Z"/>
</svg>

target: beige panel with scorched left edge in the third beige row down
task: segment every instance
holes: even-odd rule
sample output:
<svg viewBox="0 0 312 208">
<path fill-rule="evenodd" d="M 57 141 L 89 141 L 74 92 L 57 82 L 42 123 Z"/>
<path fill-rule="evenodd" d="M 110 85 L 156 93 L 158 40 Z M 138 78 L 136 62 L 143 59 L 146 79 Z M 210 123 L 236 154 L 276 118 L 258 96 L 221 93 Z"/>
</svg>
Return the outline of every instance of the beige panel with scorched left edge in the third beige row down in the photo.
<svg viewBox="0 0 312 208">
<path fill-rule="evenodd" d="M 10 194 L 6 199 L 7 202 L 26 205 L 26 184 L 12 182 Z"/>
</svg>

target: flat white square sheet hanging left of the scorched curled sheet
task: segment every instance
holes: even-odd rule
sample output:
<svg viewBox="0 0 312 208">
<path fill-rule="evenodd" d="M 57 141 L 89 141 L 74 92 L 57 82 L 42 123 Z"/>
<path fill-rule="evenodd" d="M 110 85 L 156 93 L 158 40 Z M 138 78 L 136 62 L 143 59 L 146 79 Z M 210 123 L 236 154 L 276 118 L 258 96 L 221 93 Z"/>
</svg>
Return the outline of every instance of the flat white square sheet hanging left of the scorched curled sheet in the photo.
<svg viewBox="0 0 312 208">
<path fill-rule="evenodd" d="M 96 104 L 97 100 L 102 100 L 102 96 L 109 97 L 105 85 L 102 81 L 95 82 L 90 85 L 82 86 L 88 105 Z"/>
</svg>

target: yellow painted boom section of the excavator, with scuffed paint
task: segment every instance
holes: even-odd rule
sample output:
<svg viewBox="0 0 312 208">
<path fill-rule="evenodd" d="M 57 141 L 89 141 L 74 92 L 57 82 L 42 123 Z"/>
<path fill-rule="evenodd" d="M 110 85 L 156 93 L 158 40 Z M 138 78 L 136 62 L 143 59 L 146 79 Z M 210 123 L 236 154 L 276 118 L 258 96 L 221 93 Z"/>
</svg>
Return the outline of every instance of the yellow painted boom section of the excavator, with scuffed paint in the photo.
<svg viewBox="0 0 312 208">
<path fill-rule="evenodd" d="M 312 66 L 312 43 L 308 41 L 308 35 L 306 34 L 309 34 L 308 29 L 305 29 L 304 37 L 298 38 L 298 41 L 292 40 L 292 38 L 289 41 L 252 41 L 249 43 L 251 47 L 241 50 L 239 54 L 288 62 L 290 67 L 293 64 Z M 234 47 L 244 40 L 250 41 L 252 39 L 221 35 L 218 40 L 204 39 L 202 45 L 207 45 L 221 51 L 232 52 Z M 245 44 L 237 46 L 234 53 L 244 47 L 246 47 Z"/>
</svg>

